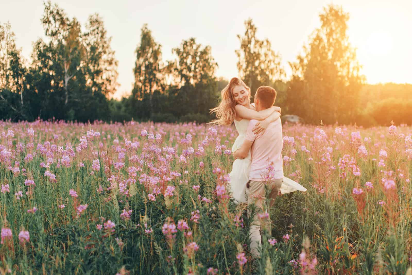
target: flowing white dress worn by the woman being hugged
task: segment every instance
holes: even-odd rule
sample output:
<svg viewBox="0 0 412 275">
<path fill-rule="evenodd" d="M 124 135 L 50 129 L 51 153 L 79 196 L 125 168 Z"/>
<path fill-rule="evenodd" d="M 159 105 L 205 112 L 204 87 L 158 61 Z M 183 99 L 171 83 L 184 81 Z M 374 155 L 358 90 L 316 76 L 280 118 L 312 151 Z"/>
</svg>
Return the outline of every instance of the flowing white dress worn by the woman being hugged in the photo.
<svg viewBox="0 0 412 275">
<path fill-rule="evenodd" d="M 245 140 L 246 130 L 248 129 L 249 120 L 242 119 L 241 121 L 234 120 L 234 125 L 236 130 L 239 133 L 239 136 L 236 137 L 236 140 L 232 146 L 232 152 L 235 152 L 239 149 L 243 140 Z M 230 191 L 232 193 L 232 198 L 237 200 L 239 203 L 246 203 L 246 184 L 249 180 L 250 165 L 252 164 L 252 157 L 250 155 L 250 150 L 248 156 L 243 159 L 236 158 L 233 162 L 232 172 L 230 172 Z M 306 191 L 302 185 L 297 182 L 289 179 L 288 177 L 283 177 L 283 183 L 281 186 L 281 193 L 286 194 L 293 191 Z"/>
</svg>

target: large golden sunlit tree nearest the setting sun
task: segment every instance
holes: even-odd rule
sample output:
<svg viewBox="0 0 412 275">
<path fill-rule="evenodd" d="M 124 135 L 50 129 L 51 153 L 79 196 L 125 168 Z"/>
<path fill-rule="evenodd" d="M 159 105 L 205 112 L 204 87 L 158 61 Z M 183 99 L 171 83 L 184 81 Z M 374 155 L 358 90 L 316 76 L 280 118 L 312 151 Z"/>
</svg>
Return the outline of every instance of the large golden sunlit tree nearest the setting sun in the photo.
<svg viewBox="0 0 412 275">
<path fill-rule="evenodd" d="M 303 47 L 297 61 L 290 63 L 290 112 L 316 124 L 321 120 L 327 124 L 353 122 L 364 76 L 346 34 L 349 14 L 329 5 L 319 18 L 321 27 L 309 37 L 309 45 Z"/>
</svg>

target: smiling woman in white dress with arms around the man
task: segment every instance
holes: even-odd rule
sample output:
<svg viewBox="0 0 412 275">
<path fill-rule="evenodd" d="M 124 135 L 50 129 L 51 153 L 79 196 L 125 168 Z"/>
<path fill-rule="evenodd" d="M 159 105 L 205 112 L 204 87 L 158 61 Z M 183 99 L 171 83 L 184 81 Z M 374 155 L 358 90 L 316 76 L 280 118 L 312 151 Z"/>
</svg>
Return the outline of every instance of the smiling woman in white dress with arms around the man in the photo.
<svg viewBox="0 0 412 275">
<path fill-rule="evenodd" d="M 250 119 L 257 119 L 259 122 L 253 129 L 253 133 L 260 134 L 265 131 L 269 123 L 279 119 L 281 109 L 272 106 L 269 109 L 256 112 L 255 106 L 250 104 L 250 89 L 239 78 L 233 77 L 229 84 L 222 90 L 222 101 L 218 107 L 212 109 L 218 119 L 211 121 L 215 124 L 230 125 L 234 122 L 239 136 L 236 138 L 232 152 L 239 149 L 245 139 L 246 130 Z M 250 151 L 243 159 L 236 159 L 233 162 L 232 172 L 230 172 L 230 191 L 232 197 L 239 203 L 246 203 L 246 183 L 249 180 L 250 165 L 252 158 Z M 281 193 L 290 193 L 296 190 L 306 191 L 306 189 L 293 180 L 283 177 Z"/>
</svg>

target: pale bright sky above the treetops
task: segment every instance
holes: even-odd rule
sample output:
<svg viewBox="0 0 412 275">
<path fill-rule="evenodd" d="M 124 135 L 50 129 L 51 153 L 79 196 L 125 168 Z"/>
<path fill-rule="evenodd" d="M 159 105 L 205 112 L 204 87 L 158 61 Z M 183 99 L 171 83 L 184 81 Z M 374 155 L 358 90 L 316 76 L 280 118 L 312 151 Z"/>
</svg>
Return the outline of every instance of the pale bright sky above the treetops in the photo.
<svg viewBox="0 0 412 275">
<path fill-rule="evenodd" d="M 281 55 L 288 76 L 289 61 L 295 61 L 308 36 L 320 26 L 318 15 L 328 4 L 342 5 L 348 12 L 349 40 L 357 48 L 362 72 L 370 84 L 412 83 L 412 1 L 407 0 L 56 0 L 66 14 L 84 26 L 89 15 L 98 13 L 104 21 L 111 47 L 119 61 L 115 98 L 130 94 L 144 23 L 162 45 L 163 60 L 175 57 L 171 49 L 182 40 L 196 37 L 210 45 L 219 68 L 216 76 L 237 76 L 240 48 L 236 35 L 245 31 L 244 21 L 253 19 L 259 39 L 268 38 Z M 9 21 L 16 35 L 16 46 L 30 61 L 33 42 L 44 38 L 40 19 L 42 0 L 0 0 L 0 23 Z"/>
</svg>

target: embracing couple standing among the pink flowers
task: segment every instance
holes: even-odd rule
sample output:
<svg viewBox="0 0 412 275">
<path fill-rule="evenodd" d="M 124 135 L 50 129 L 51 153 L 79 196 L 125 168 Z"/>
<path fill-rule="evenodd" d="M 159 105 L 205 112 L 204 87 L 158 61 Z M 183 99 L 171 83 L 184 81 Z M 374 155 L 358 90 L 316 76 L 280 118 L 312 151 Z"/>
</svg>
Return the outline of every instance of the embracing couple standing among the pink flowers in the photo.
<svg viewBox="0 0 412 275">
<path fill-rule="evenodd" d="M 249 87 L 234 77 L 222 90 L 219 106 L 212 110 L 217 117 L 212 123 L 230 125 L 234 122 L 239 133 L 232 147 L 236 159 L 229 174 L 230 191 L 236 202 L 256 207 L 249 232 L 250 252 L 254 256 L 259 256 L 260 230 L 266 229 L 271 234 L 270 215 L 261 224 L 258 214 L 269 212 L 279 191 L 282 194 L 306 191 L 297 182 L 283 176 L 281 109 L 273 106 L 275 99 L 275 89 L 260 86 L 254 104 L 250 104 Z M 269 189 L 270 201 L 266 207 L 265 186 Z"/>
</svg>

